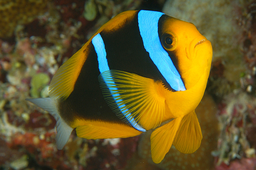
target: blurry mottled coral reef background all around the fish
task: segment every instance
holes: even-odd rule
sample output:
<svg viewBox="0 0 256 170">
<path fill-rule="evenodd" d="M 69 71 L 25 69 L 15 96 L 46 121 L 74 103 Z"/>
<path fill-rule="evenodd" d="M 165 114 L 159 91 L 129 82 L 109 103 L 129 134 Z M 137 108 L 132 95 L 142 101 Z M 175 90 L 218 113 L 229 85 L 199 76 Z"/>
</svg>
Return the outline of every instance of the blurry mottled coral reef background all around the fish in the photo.
<svg viewBox="0 0 256 170">
<path fill-rule="evenodd" d="M 59 66 L 102 24 L 126 10 L 192 22 L 212 43 L 208 84 L 196 109 L 201 147 L 151 160 L 150 133 L 55 145 L 54 118 L 25 101 L 47 97 Z M 256 169 L 256 1 L 0 1 L 0 169 Z"/>
</svg>

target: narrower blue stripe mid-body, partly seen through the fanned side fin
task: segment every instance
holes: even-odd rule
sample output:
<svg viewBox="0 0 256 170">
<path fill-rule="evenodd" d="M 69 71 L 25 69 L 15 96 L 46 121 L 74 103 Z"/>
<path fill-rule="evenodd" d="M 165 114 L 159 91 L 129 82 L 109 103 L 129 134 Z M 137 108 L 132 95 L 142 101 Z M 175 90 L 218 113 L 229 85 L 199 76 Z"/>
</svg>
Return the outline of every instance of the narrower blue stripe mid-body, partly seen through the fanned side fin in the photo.
<svg viewBox="0 0 256 170">
<path fill-rule="evenodd" d="M 106 59 L 105 45 L 104 45 L 104 42 L 102 40 L 102 37 L 101 37 L 100 33 L 95 35 L 92 38 L 92 44 L 93 44 L 94 49 L 97 53 L 100 73 L 108 71 L 109 66 L 108 66 L 108 60 Z M 111 77 L 110 74 L 109 74 L 109 77 Z M 116 103 L 122 102 L 122 99 L 119 99 L 120 97 L 118 97 L 120 95 L 119 94 L 114 94 L 116 91 L 118 91 L 118 88 L 112 87 L 112 86 L 115 86 L 113 79 L 111 80 L 111 79 L 106 79 L 106 78 L 103 77 L 103 80 L 107 84 L 107 86 L 109 88 L 109 91 L 110 91 L 112 97 L 114 98 L 115 102 Z M 130 122 L 130 124 L 135 129 L 140 130 L 142 132 L 146 132 L 146 130 L 144 128 L 142 128 L 140 125 L 138 125 L 136 123 L 136 121 L 134 120 L 134 118 L 131 117 L 131 113 L 127 114 L 127 112 L 129 112 L 128 109 L 122 110 L 122 108 L 125 108 L 125 104 L 122 104 L 121 106 L 118 106 L 118 108 L 125 115 L 126 119 Z"/>
</svg>

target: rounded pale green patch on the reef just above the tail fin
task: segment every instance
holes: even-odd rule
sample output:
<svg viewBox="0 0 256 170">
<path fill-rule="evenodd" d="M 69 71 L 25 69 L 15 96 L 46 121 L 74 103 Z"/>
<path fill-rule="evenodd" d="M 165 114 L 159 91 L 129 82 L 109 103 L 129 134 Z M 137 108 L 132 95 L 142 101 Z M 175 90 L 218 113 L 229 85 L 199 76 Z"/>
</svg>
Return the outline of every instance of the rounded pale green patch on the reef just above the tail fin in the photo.
<svg viewBox="0 0 256 170">
<path fill-rule="evenodd" d="M 34 75 L 31 79 L 30 85 L 30 95 L 31 97 L 38 98 L 41 97 L 41 91 L 50 82 L 50 77 L 45 73 L 38 73 Z M 44 96 L 45 97 L 45 96 Z"/>
</svg>

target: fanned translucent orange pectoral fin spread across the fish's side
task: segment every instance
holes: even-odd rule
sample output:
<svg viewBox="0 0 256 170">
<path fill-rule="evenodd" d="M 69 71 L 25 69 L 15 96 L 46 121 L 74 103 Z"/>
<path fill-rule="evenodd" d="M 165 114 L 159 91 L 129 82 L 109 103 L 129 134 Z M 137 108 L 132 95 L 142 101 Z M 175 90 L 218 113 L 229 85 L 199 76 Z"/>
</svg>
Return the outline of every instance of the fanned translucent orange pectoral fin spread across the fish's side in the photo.
<svg viewBox="0 0 256 170">
<path fill-rule="evenodd" d="M 101 73 L 99 83 L 112 111 L 127 124 L 140 131 L 161 124 L 165 111 L 165 99 L 157 91 L 161 83 L 117 70 Z"/>
</svg>

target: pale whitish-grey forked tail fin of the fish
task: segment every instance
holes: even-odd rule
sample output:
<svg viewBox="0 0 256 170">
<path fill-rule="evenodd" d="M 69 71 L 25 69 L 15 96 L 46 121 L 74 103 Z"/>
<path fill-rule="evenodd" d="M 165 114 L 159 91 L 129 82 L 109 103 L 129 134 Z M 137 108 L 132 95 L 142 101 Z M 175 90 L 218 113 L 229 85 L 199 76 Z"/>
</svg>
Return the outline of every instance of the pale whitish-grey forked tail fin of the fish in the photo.
<svg viewBox="0 0 256 170">
<path fill-rule="evenodd" d="M 35 99 L 26 99 L 40 108 L 44 109 L 45 111 L 49 112 L 54 118 L 56 119 L 56 143 L 57 148 L 62 149 L 66 143 L 68 142 L 69 136 L 73 130 L 59 115 L 58 109 L 55 106 L 53 100 L 48 98 L 35 98 Z"/>
</svg>

